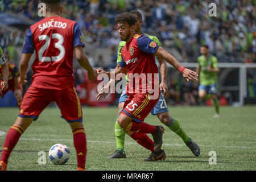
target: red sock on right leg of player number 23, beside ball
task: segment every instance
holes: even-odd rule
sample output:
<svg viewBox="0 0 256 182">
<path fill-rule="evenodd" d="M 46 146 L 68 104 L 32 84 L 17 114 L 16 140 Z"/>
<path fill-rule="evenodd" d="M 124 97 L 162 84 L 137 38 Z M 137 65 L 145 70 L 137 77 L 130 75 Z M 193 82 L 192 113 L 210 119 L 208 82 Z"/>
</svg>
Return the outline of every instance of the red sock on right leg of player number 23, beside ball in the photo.
<svg viewBox="0 0 256 182">
<path fill-rule="evenodd" d="M 76 148 L 77 167 L 85 168 L 87 147 L 84 128 L 80 127 L 76 130 L 73 130 L 73 139 L 74 146 Z"/>
</svg>

